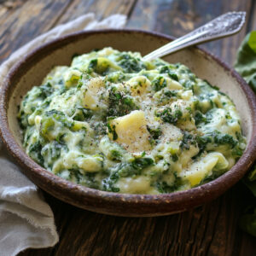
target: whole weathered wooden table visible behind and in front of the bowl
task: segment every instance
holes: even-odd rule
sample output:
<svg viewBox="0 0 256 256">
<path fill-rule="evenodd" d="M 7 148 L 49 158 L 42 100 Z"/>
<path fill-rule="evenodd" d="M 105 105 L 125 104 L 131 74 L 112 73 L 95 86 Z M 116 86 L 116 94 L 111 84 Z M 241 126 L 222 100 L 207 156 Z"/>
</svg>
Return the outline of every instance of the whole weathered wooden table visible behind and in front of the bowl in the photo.
<svg viewBox="0 0 256 256">
<path fill-rule="evenodd" d="M 247 11 L 243 30 L 203 45 L 231 65 L 242 38 L 256 28 L 253 0 L 0 0 L 0 62 L 42 32 L 88 12 L 98 19 L 125 14 L 127 27 L 179 37 L 232 10 Z M 20 255 L 256 255 L 256 238 L 237 226 L 244 207 L 253 201 L 242 183 L 202 207 L 160 218 L 105 216 L 45 198 L 55 213 L 60 242 Z"/>
</svg>

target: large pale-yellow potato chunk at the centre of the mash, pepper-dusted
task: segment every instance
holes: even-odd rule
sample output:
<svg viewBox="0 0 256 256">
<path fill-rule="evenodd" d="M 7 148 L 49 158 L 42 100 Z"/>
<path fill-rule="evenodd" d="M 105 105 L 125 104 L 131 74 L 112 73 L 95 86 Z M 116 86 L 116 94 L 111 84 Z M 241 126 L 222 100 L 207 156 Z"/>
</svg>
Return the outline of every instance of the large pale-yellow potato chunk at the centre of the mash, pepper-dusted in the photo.
<svg viewBox="0 0 256 256">
<path fill-rule="evenodd" d="M 150 134 L 143 111 L 135 110 L 125 116 L 113 119 L 110 126 L 117 134 L 115 142 L 122 144 L 130 152 L 142 152 L 151 148 Z M 113 139 L 113 133 L 108 133 Z"/>
</svg>

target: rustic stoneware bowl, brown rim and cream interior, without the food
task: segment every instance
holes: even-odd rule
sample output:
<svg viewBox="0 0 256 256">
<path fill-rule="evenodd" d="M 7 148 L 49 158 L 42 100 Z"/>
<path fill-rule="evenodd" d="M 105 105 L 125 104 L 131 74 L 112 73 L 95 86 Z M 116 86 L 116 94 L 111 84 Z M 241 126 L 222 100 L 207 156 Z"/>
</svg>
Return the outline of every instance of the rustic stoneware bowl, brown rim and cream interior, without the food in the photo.
<svg viewBox="0 0 256 256">
<path fill-rule="evenodd" d="M 139 51 L 142 55 L 168 43 L 172 38 L 142 31 L 108 30 L 78 32 L 44 44 L 23 57 L 9 72 L 1 88 L 0 131 L 3 143 L 22 172 L 38 187 L 56 198 L 93 212 L 119 216 L 159 216 L 183 212 L 218 197 L 243 177 L 256 158 L 256 101 L 253 91 L 230 67 L 206 51 L 183 49 L 166 56 L 166 61 L 182 62 L 201 79 L 227 93 L 241 116 L 247 149 L 229 172 L 195 189 L 165 195 L 128 195 L 88 189 L 47 172 L 30 159 L 21 145 L 16 116 L 21 97 L 56 65 L 69 65 L 74 54 L 112 46 L 114 49 Z"/>
</svg>

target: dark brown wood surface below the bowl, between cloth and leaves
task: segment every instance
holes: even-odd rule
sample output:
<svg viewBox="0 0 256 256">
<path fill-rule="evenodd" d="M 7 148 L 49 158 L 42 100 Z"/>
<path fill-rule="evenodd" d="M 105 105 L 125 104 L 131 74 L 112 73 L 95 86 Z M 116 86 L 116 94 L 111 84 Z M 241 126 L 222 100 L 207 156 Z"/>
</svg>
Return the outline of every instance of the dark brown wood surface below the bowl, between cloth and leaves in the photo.
<svg viewBox="0 0 256 256">
<path fill-rule="evenodd" d="M 202 207 L 159 218 L 106 216 L 69 206 L 49 195 L 47 201 L 55 213 L 60 242 L 55 248 L 27 250 L 20 256 L 236 256 L 253 255 L 255 250 L 254 238 L 237 227 L 241 211 L 253 201 L 242 183 Z"/>
</svg>

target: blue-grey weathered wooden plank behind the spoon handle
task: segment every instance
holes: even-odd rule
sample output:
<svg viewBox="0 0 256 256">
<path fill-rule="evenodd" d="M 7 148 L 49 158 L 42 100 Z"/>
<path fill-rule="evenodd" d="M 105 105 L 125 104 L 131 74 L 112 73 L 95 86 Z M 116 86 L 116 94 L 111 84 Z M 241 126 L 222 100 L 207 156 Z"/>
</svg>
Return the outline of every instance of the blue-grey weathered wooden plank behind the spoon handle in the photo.
<svg viewBox="0 0 256 256">
<path fill-rule="evenodd" d="M 160 0 L 158 4 L 155 4 L 154 0 L 139 0 L 127 26 L 163 32 L 178 38 L 229 11 L 247 11 L 247 15 L 250 15 L 251 5 L 251 0 Z M 246 31 L 247 24 L 239 34 L 233 37 L 201 46 L 224 61 L 233 64 L 236 58 L 236 49 L 241 44 Z"/>
</svg>

